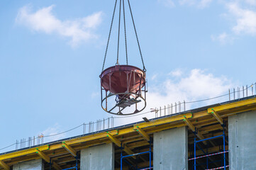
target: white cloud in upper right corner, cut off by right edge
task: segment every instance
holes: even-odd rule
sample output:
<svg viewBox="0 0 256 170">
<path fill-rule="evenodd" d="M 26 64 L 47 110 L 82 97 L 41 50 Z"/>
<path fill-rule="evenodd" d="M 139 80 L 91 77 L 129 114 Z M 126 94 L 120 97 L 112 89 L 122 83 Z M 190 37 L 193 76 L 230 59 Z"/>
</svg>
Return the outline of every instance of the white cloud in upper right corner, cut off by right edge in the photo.
<svg viewBox="0 0 256 170">
<path fill-rule="evenodd" d="M 226 6 L 236 20 L 236 25 L 233 26 L 235 34 L 256 35 L 256 11 L 242 8 L 237 2 L 229 3 Z"/>
</svg>

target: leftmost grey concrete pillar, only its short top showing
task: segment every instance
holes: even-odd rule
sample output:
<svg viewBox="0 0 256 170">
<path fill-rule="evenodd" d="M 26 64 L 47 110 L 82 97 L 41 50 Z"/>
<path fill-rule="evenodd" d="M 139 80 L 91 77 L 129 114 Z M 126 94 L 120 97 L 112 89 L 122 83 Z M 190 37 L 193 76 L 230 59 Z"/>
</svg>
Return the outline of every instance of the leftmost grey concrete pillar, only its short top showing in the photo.
<svg viewBox="0 0 256 170">
<path fill-rule="evenodd" d="M 43 160 L 37 159 L 15 164 L 13 165 L 13 170 L 44 170 Z"/>
</svg>

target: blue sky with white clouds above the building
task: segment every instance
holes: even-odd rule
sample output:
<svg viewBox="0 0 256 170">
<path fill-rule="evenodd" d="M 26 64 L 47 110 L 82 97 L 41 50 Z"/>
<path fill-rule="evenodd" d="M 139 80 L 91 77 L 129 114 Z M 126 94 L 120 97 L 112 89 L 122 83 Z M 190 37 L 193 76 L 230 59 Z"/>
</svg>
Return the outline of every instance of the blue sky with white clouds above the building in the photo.
<svg viewBox="0 0 256 170">
<path fill-rule="evenodd" d="M 100 106 L 99 74 L 113 4 L 0 1 L 0 148 L 23 137 L 62 132 L 110 116 Z M 255 83 L 255 0 L 130 4 L 147 69 L 146 111 Z M 126 16 L 129 64 L 142 67 Z M 116 21 L 106 67 L 116 64 Z"/>
</svg>

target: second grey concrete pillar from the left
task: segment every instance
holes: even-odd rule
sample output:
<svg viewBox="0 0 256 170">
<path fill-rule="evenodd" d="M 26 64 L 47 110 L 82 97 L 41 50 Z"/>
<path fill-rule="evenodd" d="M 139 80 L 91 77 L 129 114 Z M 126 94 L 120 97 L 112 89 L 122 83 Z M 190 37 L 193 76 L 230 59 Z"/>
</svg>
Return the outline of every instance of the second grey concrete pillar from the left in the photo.
<svg viewBox="0 0 256 170">
<path fill-rule="evenodd" d="M 114 170 L 113 143 L 81 150 L 81 170 Z"/>
</svg>

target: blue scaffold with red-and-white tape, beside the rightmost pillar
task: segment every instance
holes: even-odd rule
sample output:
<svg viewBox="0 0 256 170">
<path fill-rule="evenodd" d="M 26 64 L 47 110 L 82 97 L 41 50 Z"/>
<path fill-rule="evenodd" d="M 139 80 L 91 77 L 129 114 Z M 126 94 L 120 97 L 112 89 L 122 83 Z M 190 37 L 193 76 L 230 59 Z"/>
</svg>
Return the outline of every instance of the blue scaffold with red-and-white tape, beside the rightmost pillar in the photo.
<svg viewBox="0 0 256 170">
<path fill-rule="evenodd" d="M 215 169 L 224 169 L 224 170 L 226 170 L 226 168 L 229 167 L 229 165 L 226 164 L 226 153 L 228 153 L 228 150 L 226 150 L 226 141 L 225 141 L 226 140 L 226 135 L 225 135 L 225 127 L 226 126 L 225 126 L 225 123 L 223 123 L 222 127 L 223 127 L 223 134 L 222 135 L 218 135 L 218 136 L 215 136 L 215 137 L 209 137 L 209 138 L 206 138 L 204 140 L 196 140 L 196 131 L 194 132 L 194 158 L 189 159 L 189 161 L 194 160 L 194 170 L 196 170 L 196 166 L 201 165 L 201 164 L 196 164 L 196 159 L 201 159 L 201 158 L 204 158 L 204 157 L 206 157 L 206 169 L 205 170 L 215 170 Z M 202 149 L 198 145 L 199 142 L 213 140 L 213 139 L 216 139 L 218 137 L 223 138 L 223 152 L 208 154 L 208 143 L 206 145 L 206 152 L 204 152 L 204 149 Z M 198 147 L 204 153 L 203 156 L 196 157 L 196 147 Z M 209 157 L 211 157 L 213 155 L 217 155 L 217 154 L 223 155 L 221 160 L 215 161 L 215 162 L 221 162 L 222 166 L 216 167 L 216 168 L 213 168 L 213 169 L 209 169 L 209 164 L 214 163 L 214 162 L 209 162 L 209 160 L 208 160 Z"/>
</svg>

